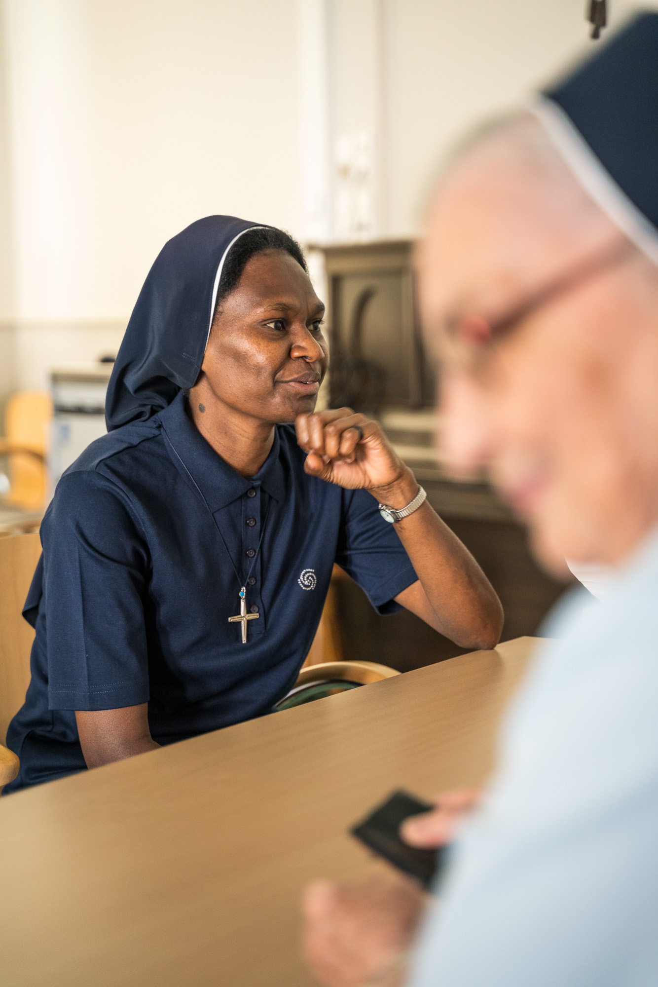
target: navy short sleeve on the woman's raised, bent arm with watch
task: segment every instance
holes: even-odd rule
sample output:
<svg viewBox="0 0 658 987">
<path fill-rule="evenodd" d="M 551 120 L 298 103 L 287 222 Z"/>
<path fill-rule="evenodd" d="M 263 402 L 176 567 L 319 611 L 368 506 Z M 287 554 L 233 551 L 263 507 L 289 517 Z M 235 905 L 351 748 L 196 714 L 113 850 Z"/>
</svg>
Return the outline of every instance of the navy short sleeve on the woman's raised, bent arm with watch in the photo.
<svg viewBox="0 0 658 987">
<path fill-rule="evenodd" d="M 335 561 L 365 591 L 380 614 L 401 609 L 398 593 L 418 576 L 393 524 L 385 521 L 367 491 L 345 491 Z"/>
</svg>

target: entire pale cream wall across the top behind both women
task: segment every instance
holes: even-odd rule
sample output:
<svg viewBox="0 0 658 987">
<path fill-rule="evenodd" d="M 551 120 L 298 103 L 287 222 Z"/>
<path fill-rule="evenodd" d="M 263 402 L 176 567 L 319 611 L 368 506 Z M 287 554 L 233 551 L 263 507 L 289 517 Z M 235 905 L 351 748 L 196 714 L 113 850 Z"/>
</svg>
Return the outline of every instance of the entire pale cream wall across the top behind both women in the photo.
<svg viewBox="0 0 658 987">
<path fill-rule="evenodd" d="M 415 233 L 455 136 L 591 43 L 583 0 L 0 4 L 0 403 L 115 350 L 199 216 L 335 236 L 345 136 L 372 138 L 366 234 Z"/>
</svg>

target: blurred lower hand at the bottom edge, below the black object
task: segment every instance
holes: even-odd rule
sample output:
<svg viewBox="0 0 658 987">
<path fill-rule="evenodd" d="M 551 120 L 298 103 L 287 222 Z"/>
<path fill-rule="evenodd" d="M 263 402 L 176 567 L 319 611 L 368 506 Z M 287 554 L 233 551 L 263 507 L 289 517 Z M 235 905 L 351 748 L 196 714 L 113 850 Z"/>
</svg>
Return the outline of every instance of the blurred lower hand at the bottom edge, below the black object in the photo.
<svg viewBox="0 0 658 987">
<path fill-rule="evenodd" d="M 315 881 L 304 895 L 304 955 L 325 987 L 401 982 L 425 907 L 420 888 L 403 877 L 348 887 Z M 387 978 L 385 980 L 385 978 Z"/>
</svg>

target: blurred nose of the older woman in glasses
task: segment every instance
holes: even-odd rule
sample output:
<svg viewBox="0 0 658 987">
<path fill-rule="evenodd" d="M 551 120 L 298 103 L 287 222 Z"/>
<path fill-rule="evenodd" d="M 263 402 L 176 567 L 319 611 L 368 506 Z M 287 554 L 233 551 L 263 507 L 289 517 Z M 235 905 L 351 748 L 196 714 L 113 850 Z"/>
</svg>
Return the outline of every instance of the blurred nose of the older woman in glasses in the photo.
<svg viewBox="0 0 658 987">
<path fill-rule="evenodd" d="M 441 375 L 437 444 L 451 473 L 473 477 L 490 460 L 491 409 L 485 395 L 466 373 L 445 369 Z"/>
</svg>

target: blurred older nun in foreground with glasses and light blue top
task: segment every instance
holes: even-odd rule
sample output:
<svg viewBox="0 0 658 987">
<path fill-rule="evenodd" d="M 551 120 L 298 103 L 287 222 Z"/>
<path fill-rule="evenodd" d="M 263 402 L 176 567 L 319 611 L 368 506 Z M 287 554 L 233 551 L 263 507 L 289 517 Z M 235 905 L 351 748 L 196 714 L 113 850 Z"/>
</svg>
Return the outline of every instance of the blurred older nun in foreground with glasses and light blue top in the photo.
<svg viewBox="0 0 658 987">
<path fill-rule="evenodd" d="M 440 903 L 402 881 L 309 889 L 324 984 L 658 984 L 657 265 L 646 14 L 463 150 L 419 257 L 447 457 L 487 467 L 545 567 L 614 569 L 607 599 L 554 615 L 483 797 L 405 825 L 429 846 L 461 820 Z"/>
</svg>

